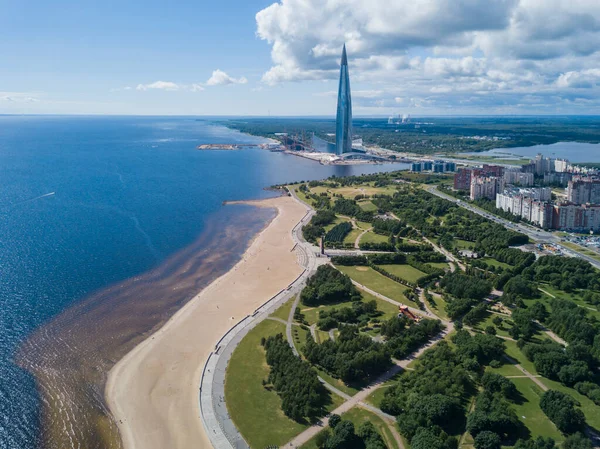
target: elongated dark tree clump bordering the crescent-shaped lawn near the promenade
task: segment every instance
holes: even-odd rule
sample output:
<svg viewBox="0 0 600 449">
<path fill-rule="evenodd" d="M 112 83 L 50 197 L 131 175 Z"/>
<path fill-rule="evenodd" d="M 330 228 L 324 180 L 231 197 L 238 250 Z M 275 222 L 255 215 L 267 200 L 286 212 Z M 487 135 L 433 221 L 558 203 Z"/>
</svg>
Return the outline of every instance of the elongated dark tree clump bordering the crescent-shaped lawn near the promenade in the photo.
<svg viewBox="0 0 600 449">
<path fill-rule="evenodd" d="M 294 355 L 281 334 L 263 339 L 262 345 L 271 367 L 268 383 L 281 397 L 281 409 L 286 416 L 299 422 L 323 416 L 330 393 L 310 364 Z"/>
</svg>

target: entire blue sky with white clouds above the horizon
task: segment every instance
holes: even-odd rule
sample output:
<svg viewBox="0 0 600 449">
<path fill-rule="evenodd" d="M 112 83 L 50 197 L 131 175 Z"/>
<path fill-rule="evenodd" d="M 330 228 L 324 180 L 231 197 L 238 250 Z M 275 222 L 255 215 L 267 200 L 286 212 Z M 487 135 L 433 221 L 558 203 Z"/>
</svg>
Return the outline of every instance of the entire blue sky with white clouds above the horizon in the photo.
<svg viewBox="0 0 600 449">
<path fill-rule="evenodd" d="M 600 114 L 598 0 L 0 0 L 0 113 Z"/>
</svg>

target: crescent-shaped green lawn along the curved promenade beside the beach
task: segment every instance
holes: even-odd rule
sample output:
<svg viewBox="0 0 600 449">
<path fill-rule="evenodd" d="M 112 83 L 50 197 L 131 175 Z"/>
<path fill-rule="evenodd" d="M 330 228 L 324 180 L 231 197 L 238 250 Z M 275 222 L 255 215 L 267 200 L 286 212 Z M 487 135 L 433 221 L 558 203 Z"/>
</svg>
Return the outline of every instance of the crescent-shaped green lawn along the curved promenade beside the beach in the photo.
<svg viewBox="0 0 600 449">
<path fill-rule="evenodd" d="M 225 376 L 225 400 L 236 427 L 252 448 L 283 445 L 307 428 L 281 411 L 281 399 L 262 385 L 269 375 L 261 337 L 285 333 L 285 326 L 264 320 L 233 352 Z"/>
</svg>

